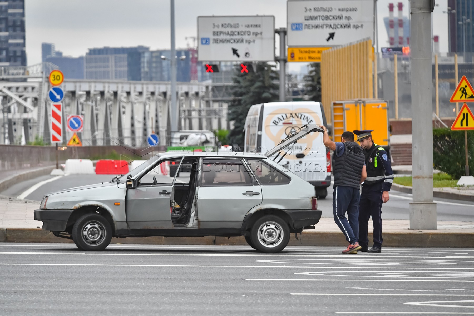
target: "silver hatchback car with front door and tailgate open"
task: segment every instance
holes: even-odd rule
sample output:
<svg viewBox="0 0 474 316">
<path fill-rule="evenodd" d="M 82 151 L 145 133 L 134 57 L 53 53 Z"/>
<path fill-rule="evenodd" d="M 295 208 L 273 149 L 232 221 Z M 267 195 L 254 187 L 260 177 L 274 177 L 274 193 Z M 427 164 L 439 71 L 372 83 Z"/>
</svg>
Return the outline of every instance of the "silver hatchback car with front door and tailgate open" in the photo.
<svg viewBox="0 0 474 316">
<path fill-rule="evenodd" d="M 35 220 L 87 251 L 104 250 L 112 237 L 243 235 L 256 250 L 277 253 L 291 233 L 314 228 L 321 211 L 314 186 L 267 156 L 315 128 L 267 155 L 157 154 L 108 183 L 46 195 Z"/>
</svg>

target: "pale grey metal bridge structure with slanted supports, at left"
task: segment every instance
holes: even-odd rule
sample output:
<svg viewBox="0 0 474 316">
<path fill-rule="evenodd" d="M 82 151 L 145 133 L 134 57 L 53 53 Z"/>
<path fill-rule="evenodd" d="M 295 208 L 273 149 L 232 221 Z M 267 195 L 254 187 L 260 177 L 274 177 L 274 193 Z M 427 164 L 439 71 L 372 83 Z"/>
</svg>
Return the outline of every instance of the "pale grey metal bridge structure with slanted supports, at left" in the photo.
<svg viewBox="0 0 474 316">
<path fill-rule="evenodd" d="M 28 67 L 0 68 L 0 144 L 26 144 L 35 139 L 50 140 L 51 102 L 49 72 L 58 67 L 39 63 Z M 218 87 L 216 87 L 218 86 Z M 169 82 L 71 80 L 65 79 L 63 102 L 63 140 L 69 114 L 84 116 L 84 130 L 78 133 L 84 145 L 112 143 L 146 145 L 146 136 L 160 135 L 160 144 L 170 139 Z M 211 82 L 178 82 L 179 129 L 229 128 L 228 93 Z M 213 98 L 214 96 L 214 98 Z"/>
</svg>

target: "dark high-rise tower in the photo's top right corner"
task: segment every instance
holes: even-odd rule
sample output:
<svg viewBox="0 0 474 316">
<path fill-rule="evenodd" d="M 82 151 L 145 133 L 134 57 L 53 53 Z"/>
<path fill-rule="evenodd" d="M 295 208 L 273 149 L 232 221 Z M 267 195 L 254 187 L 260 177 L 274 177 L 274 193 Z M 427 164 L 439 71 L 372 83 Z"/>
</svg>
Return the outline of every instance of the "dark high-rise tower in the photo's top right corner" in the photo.
<svg viewBox="0 0 474 316">
<path fill-rule="evenodd" d="M 474 1 L 448 0 L 449 49 L 474 52 Z"/>
</svg>

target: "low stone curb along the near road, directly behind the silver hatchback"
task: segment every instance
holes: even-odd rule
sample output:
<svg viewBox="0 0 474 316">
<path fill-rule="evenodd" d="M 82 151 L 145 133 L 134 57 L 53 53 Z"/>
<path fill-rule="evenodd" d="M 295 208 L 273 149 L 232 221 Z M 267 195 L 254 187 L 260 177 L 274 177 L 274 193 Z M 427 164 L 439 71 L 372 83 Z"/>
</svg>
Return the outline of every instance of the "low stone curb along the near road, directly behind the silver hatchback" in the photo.
<svg viewBox="0 0 474 316">
<path fill-rule="evenodd" d="M 369 233 L 369 239 L 372 234 Z M 73 243 L 70 239 L 60 238 L 39 228 L 0 228 L 0 242 L 8 243 Z M 179 245 L 247 245 L 240 237 L 127 237 L 112 238 L 111 244 L 179 244 Z M 369 244 L 371 244 L 369 242 Z M 383 233 L 384 247 L 453 247 L 471 248 L 474 244 L 474 232 L 446 233 L 443 231 L 415 231 Z M 289 246 L 340 246 L 347 242 L 341 232 L 303 232 L 300 240 L 294 235 Z"/>
</svg>

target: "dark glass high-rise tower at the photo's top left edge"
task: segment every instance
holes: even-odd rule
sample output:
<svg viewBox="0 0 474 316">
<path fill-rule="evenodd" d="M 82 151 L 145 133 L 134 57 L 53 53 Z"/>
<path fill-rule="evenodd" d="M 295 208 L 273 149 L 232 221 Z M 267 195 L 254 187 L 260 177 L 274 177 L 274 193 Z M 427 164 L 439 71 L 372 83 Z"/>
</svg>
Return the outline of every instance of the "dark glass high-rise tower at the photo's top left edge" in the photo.
<svg viewBox="0 0 474 316">
<path fill-rule="evenodd" d="M 0 2 L 0 66 L 26 66 L 25 2 Z"/>
</svg>

